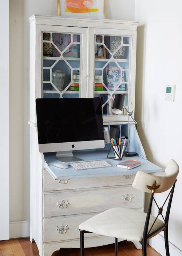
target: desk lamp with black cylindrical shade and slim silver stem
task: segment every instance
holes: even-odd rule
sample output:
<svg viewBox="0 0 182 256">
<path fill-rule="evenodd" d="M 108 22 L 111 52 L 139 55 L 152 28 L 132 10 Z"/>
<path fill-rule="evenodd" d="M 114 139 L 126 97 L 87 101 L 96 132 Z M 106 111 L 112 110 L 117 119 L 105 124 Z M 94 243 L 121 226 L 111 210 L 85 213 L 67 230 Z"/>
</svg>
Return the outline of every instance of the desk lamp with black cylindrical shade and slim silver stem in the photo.
<svg viewBox="0 0 182 256">
<path fill-rule="evenodd" d="M 126 109 L 126 107 L 124 106 L 124 95 L 123 94 L 116 94 L 115 95 L 115 98 L 114 98 L 114 103 L 113 103 L 113 106 L 112 106 L 112 112 L 115 113 L 115 114 L 121 114 L 122 111 L 123 111 L 123 108 Z M 130 116 L 132 118 L 132 120 L 134 121 L 135 124 L 137 124 L 137 122 L 135 121 L 135 119 L 132 117 L 132 112 L 127 111 L 127 114 L 128 114 L 128 151 L 127 152 L 124 152 L 124 156 L 125 157 L 134 157 L 135 155 L 137 155 L 137 153 L 135 152 L 130 152 Z"/>
</svg>

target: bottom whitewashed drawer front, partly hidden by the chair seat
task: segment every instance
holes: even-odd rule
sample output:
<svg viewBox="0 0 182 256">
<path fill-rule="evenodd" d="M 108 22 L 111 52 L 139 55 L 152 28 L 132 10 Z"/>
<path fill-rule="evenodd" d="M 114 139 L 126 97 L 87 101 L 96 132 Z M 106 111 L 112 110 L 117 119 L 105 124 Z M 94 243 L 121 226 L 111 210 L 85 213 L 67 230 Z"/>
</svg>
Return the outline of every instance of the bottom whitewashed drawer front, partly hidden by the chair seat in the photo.
<svg viewBox="0 0 182 256">
<path fill-rule="evenodd" d="M 80 237 L 78 226 L 95 214 L 78 215 L 73 217 L 59 217 L 43 220 L 43 242 L 71 240 Z M 85 237 L 97 236 L 85 234 Z"/>
</svg>

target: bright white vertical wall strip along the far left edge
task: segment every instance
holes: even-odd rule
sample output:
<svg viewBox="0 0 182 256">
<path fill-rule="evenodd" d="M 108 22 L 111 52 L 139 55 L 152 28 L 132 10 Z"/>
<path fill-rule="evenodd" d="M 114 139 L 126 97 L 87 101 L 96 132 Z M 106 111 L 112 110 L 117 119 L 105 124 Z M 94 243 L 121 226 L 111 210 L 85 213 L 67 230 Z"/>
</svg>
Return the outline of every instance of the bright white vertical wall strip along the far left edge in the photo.
<svg viewBox="0 0 182 256">
<path fill-rule="evenodd" d="M 0 6 L 0 240 L 5 240 L 9 239 L 9 2 L 0 0 Z"/>
</svg>

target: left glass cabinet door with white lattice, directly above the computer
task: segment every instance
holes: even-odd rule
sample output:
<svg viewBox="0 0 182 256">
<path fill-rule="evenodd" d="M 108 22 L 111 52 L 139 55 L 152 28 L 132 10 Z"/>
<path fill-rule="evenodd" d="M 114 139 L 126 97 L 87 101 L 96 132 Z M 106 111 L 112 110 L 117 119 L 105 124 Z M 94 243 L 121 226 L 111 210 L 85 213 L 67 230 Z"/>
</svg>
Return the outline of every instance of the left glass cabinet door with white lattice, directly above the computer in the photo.
<svg viewBox="0 0 182 256">
<path fill-rule="evenodd" d="M 87 97 L 87 29 L 42 31 L 42 97 Z"/>
</svg>

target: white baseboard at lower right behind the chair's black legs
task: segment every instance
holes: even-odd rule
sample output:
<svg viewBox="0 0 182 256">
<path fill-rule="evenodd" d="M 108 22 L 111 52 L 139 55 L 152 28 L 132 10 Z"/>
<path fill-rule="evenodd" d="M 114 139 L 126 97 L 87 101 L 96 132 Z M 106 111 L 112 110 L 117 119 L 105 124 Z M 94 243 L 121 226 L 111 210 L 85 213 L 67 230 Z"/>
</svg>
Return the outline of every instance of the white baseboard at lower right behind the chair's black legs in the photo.
<svg viewBox="0 0 182 256">
<path fill-rule="evenodd" d="M 155 251 L 160 253 L 162 256 L 166 256 L 165 241 L 163 236 L 158 234 L 157 236 L 149 240 L 149 244 L 152 248 L 155 249 Z M 170 255 L 172 256 L 182 255 L 182 251 L 179 250 L 175 245 L 171 244 L 171 242 L 169 242 L 169 251 L 170 251 Z"/>
</svg>

